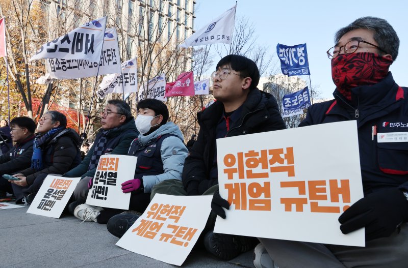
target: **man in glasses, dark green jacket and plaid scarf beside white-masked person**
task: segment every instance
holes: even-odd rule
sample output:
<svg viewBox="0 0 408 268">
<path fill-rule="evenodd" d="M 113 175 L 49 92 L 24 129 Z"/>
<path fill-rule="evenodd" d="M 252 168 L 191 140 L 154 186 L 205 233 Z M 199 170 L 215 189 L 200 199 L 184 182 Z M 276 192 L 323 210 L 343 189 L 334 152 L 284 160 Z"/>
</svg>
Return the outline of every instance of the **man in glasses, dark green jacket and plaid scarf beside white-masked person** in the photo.
<svg viewBox="0 0 408 268">
<path fill-rule="evenodd" d="M 109 100 L 100 113 L 101 130 L 87 156 L 77 167 L 64 174 L 65 177 L 82 177 L 73 192 L 74 201 L 68 206 L 73 214 L 75 207 L 85 203 L 92 179 L 101 155 L 126 155 L 132 141 L 138 136 L 131 107 L 121 100 Z"/>
</svg>

